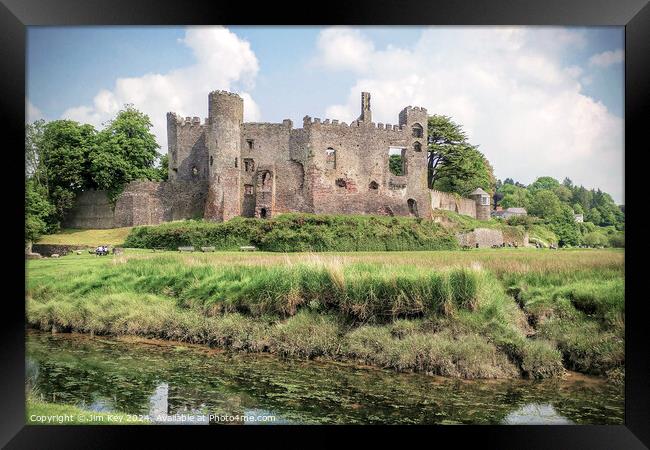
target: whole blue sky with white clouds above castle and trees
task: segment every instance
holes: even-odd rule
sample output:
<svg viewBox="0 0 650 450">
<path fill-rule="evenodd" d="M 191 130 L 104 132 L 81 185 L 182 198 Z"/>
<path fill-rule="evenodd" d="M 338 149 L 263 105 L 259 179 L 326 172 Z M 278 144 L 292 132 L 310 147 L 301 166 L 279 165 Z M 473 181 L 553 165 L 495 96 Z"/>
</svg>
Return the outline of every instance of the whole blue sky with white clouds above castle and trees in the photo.
<svg viewBox="0 0 650 450">
<path fill-rule="evenodd" d="M 499 178 L 569 176 L 623 201 L 622 27 L 30 27 L 28 120 L 97 127 L 124 103 L 205 117 L 239 92 L 245 119 L 350 121 L 407 105 L 462 123 Z"/>
</svg>

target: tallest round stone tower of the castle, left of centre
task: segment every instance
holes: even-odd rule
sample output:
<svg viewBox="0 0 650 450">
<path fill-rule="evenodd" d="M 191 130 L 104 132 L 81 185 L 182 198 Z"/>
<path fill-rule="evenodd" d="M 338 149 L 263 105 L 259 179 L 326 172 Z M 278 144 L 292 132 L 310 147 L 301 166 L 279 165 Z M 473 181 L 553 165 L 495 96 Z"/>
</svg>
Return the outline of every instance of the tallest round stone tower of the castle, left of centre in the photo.
<svg viewBox="0 0 650 450">
<path fill-rule="evenodd" d="M 221 222 L 241 215 L 239 164 L 244 100 L 237 94 L 214 91 L 208 101 L 209 189 L 204 217 Z"/>
</svg>

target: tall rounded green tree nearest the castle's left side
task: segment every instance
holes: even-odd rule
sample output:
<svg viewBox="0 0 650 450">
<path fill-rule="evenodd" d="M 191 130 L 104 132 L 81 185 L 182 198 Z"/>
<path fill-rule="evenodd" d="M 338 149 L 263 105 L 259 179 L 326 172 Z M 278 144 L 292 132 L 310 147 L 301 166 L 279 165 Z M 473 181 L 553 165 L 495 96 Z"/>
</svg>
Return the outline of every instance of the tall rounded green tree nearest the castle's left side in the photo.
<svg viewBox="0 0 650 450">
<path fill-rule="evenodd" d="M 117 113 L 100 131 L 90 153 L 90 172 L 97 189 L 106 190 L 112 201 L 134 180 L 157 180 L 159 158 L 149 117 L 132 105 Z"/>
</svg>

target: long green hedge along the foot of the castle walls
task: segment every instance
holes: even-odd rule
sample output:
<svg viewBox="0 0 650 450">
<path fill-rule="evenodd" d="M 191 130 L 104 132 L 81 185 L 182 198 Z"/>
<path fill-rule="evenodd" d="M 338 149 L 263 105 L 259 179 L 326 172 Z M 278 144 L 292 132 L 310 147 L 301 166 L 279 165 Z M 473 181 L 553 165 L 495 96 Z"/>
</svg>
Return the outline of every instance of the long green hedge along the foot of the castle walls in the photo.
<svg viewBox="0 0 650 450">
<path fill-rule="evenodd" d="M 133 248 L 254 245 L 271 252 L 451 250 L 456 237 L 439 224 L 408 217 L 283 214 L 270 220 L 237 217 L 223 223 L 188 220 L 134 228 Z"/>
</svg>

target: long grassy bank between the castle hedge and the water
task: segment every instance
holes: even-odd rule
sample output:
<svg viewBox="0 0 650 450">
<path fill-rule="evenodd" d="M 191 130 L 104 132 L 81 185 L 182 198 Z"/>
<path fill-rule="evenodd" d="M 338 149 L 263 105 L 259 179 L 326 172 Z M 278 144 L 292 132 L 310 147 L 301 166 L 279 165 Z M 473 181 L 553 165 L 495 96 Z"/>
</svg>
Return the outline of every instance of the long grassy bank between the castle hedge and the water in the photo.
<svg viewBox="0 0 650 450">
<path fill-rule="evenodd" d="M 563 364 L 603 373 L 622 369 L 622 340 L 589 358 L 576 341 L 595 326 L 613 335 L 622 330 L 622 256 L 523 249 L 71 255 L 29 261 L 27 319 L 43 330 L 133 334 L 464 378 L 559 376 Z M 611 284 L 600 290 L 581 290 L 605 279 Z M 539 291 L 551 286 L 557 292 L 550 296 Z M 548 298 L 552 311 L 539 313 L 539 301 L 526 300 L 534 295 Z M 564 298 L 576 310 L 571 322 L 559 314 Z"/>
</svg>

